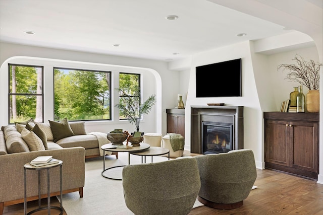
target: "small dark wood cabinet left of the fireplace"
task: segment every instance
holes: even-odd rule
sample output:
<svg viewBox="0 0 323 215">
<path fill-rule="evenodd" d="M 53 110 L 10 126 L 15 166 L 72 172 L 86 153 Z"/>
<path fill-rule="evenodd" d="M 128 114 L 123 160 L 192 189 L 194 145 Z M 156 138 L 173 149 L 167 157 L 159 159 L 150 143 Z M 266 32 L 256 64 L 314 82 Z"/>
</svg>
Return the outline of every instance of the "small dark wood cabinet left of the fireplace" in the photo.
<svg viewBox="0 0 323 215">
<path fill-rule="evenodd" d="M 185 137 L 185 109 L 166 109 L 167 133 L 179 133 Z"/>
</svg>

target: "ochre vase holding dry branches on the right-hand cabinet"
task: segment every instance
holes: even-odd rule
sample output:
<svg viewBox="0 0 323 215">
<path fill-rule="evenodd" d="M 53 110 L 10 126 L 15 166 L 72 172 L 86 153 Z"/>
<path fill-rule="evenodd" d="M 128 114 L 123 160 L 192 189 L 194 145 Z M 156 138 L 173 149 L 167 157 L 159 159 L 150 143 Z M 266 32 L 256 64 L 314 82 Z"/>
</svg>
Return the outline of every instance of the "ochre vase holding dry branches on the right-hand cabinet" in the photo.
<svg viewBox="0 0 323 215">
<path fill-rule="evenodd" d="M 295 54 L 296 64 L 280 64 L 277 70 L 288 69 L 285 79 L 292 82 L 298 82 L 308 88 L 306 94 L 306 108 L 308 112 L 319 112 L 319 69 L 321 63 L 315 63 L 314 60 L 305 61 L 299 54 Z"/>
</svg>

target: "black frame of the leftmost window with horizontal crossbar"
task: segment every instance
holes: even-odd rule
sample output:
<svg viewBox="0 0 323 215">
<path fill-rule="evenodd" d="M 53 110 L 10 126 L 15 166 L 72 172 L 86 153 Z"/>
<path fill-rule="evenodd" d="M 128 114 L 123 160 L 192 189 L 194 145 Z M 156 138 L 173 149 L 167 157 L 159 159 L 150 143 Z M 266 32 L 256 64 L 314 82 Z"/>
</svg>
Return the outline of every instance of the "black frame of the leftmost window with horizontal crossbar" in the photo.
<svg viewBox="0 0 323 215">
<path fill-rule="evenodd" d="M 33 93 L 11 93 L 10 92 L 10 67 L 11 66 L 21 66 L 21 67 L 38 67 L 41 68 L 41 94 Z M 8 63 L 8 124 L 15 124 L 10 122 L 10 97 L 11 96 L 41 96 L 41 122 L 44 122 L 44 66 L 41 65 L 28 65 L 28 64 L 19 64 L 19 63 Z"/>
</svg>

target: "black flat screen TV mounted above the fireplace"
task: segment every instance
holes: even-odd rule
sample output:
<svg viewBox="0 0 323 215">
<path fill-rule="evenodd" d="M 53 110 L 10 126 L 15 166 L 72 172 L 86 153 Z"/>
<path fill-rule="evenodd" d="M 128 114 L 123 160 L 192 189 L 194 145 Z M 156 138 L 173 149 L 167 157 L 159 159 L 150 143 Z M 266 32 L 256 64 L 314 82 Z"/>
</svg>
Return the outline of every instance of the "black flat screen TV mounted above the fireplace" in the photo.
<svg viewBox="0 0 323 215">
<path fill-rule="evenodd" d="M 196 66 L 197 98 L 241 95 L 241 58 Z"/>
</svg>

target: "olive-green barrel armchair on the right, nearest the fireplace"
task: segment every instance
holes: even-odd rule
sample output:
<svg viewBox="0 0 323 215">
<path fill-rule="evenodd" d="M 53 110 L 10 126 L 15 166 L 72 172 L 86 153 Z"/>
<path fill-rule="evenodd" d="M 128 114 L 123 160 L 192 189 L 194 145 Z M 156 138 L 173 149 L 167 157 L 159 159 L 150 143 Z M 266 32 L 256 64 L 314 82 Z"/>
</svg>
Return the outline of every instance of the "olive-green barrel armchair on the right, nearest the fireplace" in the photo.
<svg viewBox="0 0 323 215">
<path fill-rule="evenodd" d="M 243 205 L 257 178 L 251 150 L 233 150 L 194 158 L 201 179 L 197 197 L 201 203 L 218 209 L 233 209 Z"/>
</svg>

